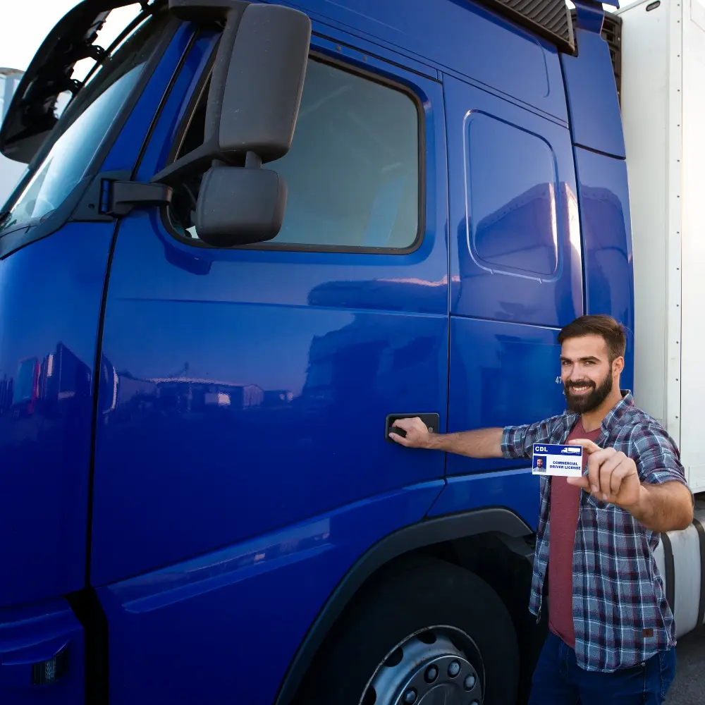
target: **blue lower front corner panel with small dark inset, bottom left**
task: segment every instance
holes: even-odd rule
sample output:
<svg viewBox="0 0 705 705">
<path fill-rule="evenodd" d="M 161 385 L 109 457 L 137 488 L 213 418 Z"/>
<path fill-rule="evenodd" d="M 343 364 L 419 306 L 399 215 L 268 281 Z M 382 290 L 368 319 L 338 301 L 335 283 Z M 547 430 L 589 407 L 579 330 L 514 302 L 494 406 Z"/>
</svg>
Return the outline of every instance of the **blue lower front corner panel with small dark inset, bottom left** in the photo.
<svg viewBox="0 0 705 705">
<path fill-rule="evenodd" d="M 32 666 L 68 650 L 68 670 L 54 683 L 32 685 Z M 80 705 L 85 701 L 83 630 L 63 599 L 0 608 L 0 702 Z"/>
</svg>

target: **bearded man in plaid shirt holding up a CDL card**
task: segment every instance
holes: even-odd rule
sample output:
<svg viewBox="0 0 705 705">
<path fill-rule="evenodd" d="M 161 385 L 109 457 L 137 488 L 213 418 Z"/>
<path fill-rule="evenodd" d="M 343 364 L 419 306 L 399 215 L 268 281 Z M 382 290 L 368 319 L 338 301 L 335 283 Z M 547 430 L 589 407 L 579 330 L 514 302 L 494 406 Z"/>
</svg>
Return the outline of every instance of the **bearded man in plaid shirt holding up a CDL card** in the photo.
<svg viewBox="0 0 705 705">
<path fill-rule="evenodd" d="M 659 533 L 685 529 L 694 501 L 673 439 L 620 389 L 625 334 L 584 316 L 558 335 L 568 410 L 545 421 L 429 434 L 420 419 L 394 425 L 402 446 L 471 458 L 526 458 L 534 443 L 584 448 L 583 477 L 541 477 L 529 609 L 546 643 L 529 705 L 656 705 L 675 676 L 675 630 L 653 554 Z M 585 470 L 585 467 L 584 467 Z"/>
</svg>

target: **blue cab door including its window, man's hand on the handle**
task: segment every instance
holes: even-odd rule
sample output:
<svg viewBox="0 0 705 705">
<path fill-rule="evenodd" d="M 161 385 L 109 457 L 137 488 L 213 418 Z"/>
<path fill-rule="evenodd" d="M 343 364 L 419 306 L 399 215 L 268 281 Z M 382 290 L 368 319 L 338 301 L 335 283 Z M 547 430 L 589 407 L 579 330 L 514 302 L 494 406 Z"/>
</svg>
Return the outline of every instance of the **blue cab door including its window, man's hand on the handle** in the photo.
<svg viewBox="0 0 705 705">
<path fill-rule="evenodd" d="M 274 240 L 206 245 L 192 223 L 199 178 L 175 184 L 170 207 L 135 209 L 119 226 L 91 556 L 115 704 L 138 694 L 221 701 L 235 661 L 261 674 L 238 682 L 237 699 L 274 701 L 355 551 L 421 520 L 443 486 L 443 454 L 385 436 L 389 414 L 446 422 L 441 83 L 435 70 L 402 68 L 407 59 L 366 54 L 324 29 L 314 24 L 293 147 L 267 165 L 288 184 Z M 185 59 L 135 180 L 200 147 L 210 68 L 200 49 Z M 223 569 L 220 551 L 241 553 L 244 572 L 211 589 L 199 576 Z M 283 572 L 251 572 L 251 553 L 263 566 L 281 555 Z M 315 580 L 306 556 L 320 558 Z M 277 577 L 288 568 L 300 572 Z M 168 587 L 185 575 L 192 599 Z M 302 592 L 275 593 L 271 580 Z M 219 637 L 231 628 L 237 639 Z M 259 651 L 242 648 L 262 639 L 277 644 L 266 674 Z M 180 677 L 162 678 L 163 668 Z"/>
</svg>

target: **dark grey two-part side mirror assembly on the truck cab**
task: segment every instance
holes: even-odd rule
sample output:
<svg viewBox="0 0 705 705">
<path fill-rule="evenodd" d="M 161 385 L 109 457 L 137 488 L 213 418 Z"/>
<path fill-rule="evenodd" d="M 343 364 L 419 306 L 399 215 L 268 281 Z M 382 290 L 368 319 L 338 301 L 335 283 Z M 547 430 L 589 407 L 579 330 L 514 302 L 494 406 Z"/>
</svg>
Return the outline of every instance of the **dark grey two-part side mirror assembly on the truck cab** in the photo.
<svg viewBox="0 0 705 705">
<path fill-rule="evenodd" d="M 221 0 L 171 0 L 181 12 L 225 12 Z M 216 247 L 276 237 L 286 183 L 262 164 L 290 149 L 306 75 L 311 21 L 278 5 L 231 4 L 216 55 L 204 142 L 152 181 L 176 185 L 206 171 L 198 195 L 198 237 Z"/>
</svg>

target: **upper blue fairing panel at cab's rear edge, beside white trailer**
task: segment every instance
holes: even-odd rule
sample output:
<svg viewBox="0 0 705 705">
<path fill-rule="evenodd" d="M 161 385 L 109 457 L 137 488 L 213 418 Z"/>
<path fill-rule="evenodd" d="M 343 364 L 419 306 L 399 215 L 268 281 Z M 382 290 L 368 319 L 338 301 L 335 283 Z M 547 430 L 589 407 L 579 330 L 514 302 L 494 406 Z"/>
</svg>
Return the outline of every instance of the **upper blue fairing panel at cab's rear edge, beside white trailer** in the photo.
<svg viewBox="0 0 705 705">
<path fill-rule="evenodd" d="M 608 44 L 599 32 L 582 29 L 575 31 L 575 40 L 578 56 L 560 56 L 572 140 L 580 147 L 624 159 L 622 118 Z"/>
</svg>

